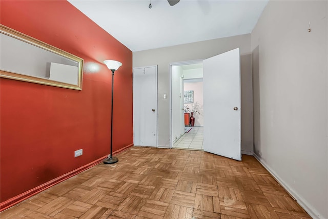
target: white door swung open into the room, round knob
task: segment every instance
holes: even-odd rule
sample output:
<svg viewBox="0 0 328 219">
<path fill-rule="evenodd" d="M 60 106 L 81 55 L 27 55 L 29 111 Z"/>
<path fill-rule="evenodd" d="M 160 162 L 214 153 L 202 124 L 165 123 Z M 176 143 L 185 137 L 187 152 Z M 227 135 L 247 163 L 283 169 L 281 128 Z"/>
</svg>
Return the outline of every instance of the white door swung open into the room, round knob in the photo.
<svg viewBox="0 0 328 219">
<path fill-rule="evenodd" d="M 239 48 L 203 61 L 204 151 L 241 161 Z"/>
</svg>

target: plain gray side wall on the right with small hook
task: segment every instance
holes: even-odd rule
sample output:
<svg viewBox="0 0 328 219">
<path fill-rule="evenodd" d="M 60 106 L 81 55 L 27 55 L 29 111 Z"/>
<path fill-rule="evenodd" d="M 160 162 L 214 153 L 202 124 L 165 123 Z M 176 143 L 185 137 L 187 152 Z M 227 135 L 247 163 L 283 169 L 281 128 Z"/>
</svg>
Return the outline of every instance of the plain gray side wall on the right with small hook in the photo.
<svg viewBox="0 0 328 219">
<path fill-rule="evenodd" d="M 314 218 L 328 218 L 327 7 L 270 1 L 252 32 L 254 152 Z"/>
</svg>

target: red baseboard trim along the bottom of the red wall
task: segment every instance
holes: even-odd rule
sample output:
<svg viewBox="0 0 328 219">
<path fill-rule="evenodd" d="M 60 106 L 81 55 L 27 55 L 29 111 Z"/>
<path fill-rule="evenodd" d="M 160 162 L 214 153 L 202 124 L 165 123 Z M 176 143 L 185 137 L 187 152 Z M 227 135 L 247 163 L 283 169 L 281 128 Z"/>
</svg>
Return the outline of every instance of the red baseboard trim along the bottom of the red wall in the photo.
<svg viewBox="0 0 328 219">
<path fill-rule="evenodd" d="M 121 149 L 118 149 L 118 150 L 116 150 L 116 151 L 113 152 L 113 155 L 118 154 L 119 152 L 122 152 L 122 151 L 124 151 L 124 150 L 126 150 L 126 149 L 128 149 L 128 148 L 130 148 L 132 146 L 133 146 L 133 144 L 130 144 L 130 145 L 126 146 L 126 147 L 123 147 Z M 68 178 L 70 178 L 72 176 L 75 176 L 75 175 L 77 175 L 80 172 L 83 172 L 83 171 L 85 171 L 85 170 L 87 170 L 87 169 L 89 169 L 89 168 L 91 168 L 91 167 L 93 167 L 93 166 L 95 166 L 97 164 L 100 164 L 101 162 L 104 161 L 104 159 L 106 157 L 107 156 L 100 157 L 99 159 L 97 159 L 97 160 L 95 160 L 95 161 L 93 161 L 93 162 L 91 162 L 89 164 L 86 164 L 86 165 L 84 165 L 82 167 L 79 167 L 79 168 L 77 168 L 77 169 L 75 169 L 75 170 L 73 170 L 71 172 L 68 172 L 68 173 L 66 173 L 64 175 L 61 175 L 61 176 L 59 176 L 57 178 L 54 178 L 53 180 L 48 181 L 47 183 L 44 183 L 42 185 L 39 185 L 39 186 L 37 186 L 37 187 L 35 187 L 33 189 L 30 189 L 30 190 L 28 190 L 28 191 L 26 191 L 26 192 L 24 192 L 22 194 L 16 195 L 15 197 L 12 197 L 12 198 L 10 198 L 9 200 L 7 200 L 5 202 L 0 203 L 0 212 L 2 212 L 4 210 L 6 210 L 6 209 L 8 209 L 8 208 L 10 208 L 10 207 L 18 204 L 19 202 L 23 202 L 24 200 L 27 200 L 27 198 L 32 197 L 33 195 L 36 195 L 39 192 L 42 192 L 42 191 L 44 191 L 46 189 L 49 189 L 50 187 L 52 187 L 52 186 L 54 186 L 54 185 L 56 185 L 56 184 L 58 184 L 60 182 L 63 182 L 65 180 L 67 180 Z"/>
</svg>

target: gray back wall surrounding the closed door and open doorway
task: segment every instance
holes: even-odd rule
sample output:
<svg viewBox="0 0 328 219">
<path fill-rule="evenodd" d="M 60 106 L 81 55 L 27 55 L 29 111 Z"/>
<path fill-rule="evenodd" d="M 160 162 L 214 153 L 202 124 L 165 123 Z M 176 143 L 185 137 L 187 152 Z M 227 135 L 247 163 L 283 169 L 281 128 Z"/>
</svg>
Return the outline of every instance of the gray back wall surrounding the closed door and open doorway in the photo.
<svg viewBox="0 0 328 219">
<path fill-rule="evenodd" d="M 241 54 L 241 140 L 242 150 L 253 151 L 253 103 L 251 34 L 238 35 L 210 41 L 183 44 L 172 47 L 138 51 L 133 53 L 133 67 L 158 65 L 158 144 L 168 146 L 170 138 L 169 106 L 170 63 L 209 58 L 229 50 L 240 48 Z"/>
</svg>

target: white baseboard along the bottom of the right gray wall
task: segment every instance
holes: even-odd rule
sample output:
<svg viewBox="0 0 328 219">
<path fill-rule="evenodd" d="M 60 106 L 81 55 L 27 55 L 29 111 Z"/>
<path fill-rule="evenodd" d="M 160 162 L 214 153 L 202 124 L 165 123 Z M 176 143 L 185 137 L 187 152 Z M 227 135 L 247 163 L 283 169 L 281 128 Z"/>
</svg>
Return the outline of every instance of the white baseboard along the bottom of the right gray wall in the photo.
<svg viewBox="0 0 328 219">
<path fill-rule="evenodd" d="M 281 178 L 277 175 L 275 171 L 273 171 L 260 157 L 258 157 L 255 153 L 253 153 L 254 157 L 262 166 L 267 169 L 271 175 L 279 182 L 280 186 L 282 186 L 286 191 L 292 195 L 292 197 L 296 200 L 296 202 L 312 217 L 316 219 L 324 219 L 322 215 L 320 215 L 315 208 L 310 205 L 304 198 L 294 191 L 290 186 L 288 186 Z"/>
</svg>

